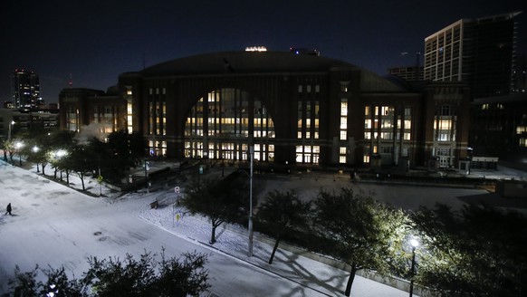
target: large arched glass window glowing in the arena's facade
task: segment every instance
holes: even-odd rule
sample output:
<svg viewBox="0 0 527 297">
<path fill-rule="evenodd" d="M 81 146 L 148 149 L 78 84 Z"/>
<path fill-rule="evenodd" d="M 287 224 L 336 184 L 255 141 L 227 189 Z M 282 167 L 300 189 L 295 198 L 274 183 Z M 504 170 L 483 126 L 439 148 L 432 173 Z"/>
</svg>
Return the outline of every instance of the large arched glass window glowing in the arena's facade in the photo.
<svg viewBox="0 0 527 297">
<path fill-rule="evenodd" d="M 249 92 L 224 88 L 207 93 L 187 114 L 185 157 L 273 161 L 274 124 L 262 101 Z"/>
</svg>

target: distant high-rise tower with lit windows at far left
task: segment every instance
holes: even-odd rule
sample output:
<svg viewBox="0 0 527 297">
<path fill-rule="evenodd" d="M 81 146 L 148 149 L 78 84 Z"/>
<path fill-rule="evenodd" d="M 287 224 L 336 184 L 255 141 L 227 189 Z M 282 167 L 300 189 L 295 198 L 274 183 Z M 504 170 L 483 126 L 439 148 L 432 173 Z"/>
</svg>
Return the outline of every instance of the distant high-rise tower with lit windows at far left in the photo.
<svg viewBox="0 0 527 297">
<path fill-rule="evenodd" d="M 16 69 L 12 73 L 11 81 L 14 108 L 38 108 L 43 105 L 38 74 Z"/>
</svg>

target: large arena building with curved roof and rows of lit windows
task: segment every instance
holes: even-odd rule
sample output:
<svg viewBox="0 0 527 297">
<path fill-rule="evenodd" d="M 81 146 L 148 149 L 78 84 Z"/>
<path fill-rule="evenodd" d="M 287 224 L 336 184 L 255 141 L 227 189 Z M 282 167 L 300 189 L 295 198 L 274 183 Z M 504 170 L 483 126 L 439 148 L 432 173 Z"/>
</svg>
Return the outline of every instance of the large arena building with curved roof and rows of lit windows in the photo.
<svg viewBox="0 0 527 297">
<path fill-rule="evenodd" d="M 101 110 L 64 91 L 61 112 Z M 412 87 L 318 55 L 200 54 L 122 73 L 118 93 L 126 107 L 111 110 L 126 110 L 116 120 L 126 125 L 115 129 L 139 131 L 156 156 L 244 161 L 253 147 L 260 162 L 342 168 L 466 158 L 463 83 Z M 63 129 L 90 123 L 63 117 Z"/>
</svg>

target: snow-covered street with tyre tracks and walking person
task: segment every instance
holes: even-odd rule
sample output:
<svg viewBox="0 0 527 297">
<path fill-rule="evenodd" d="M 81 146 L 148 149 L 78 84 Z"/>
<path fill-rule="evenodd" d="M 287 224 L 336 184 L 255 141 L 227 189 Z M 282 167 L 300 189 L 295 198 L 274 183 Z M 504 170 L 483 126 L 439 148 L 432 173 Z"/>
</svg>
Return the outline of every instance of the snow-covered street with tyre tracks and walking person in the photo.
<svg viewBox="0 0 527 297">
<path fill-rule="evenodd" d="M 13 216 L 4 212 L 0 216 L 0 294 L 7 291 L 15 265 L 22 272 L 35 264 L 42 268 L 63 265 L 67 272 L 81 277 L 90 256 L 122 259 L 126 254 L 160 253 L 162 248 L 167 256 L 193 251 L 208 254 L 212 296 L 340 296 L 348 277 L 339 269 L 286 253 L 282 253 L 282 266 L 277 260 L 272 271 L 259 267 L 257 263 L 266 259 L 260 259 L 257 251 L 250 263 L 201 244 L 199 239 L 175 235 L 139 218 L 140 212 L 160 213 L 148 209 L 151 196 L 110 204 L 5 163 L 0 165 L 0 187 L 0 205 L 11 202 L 13 206 Z M 359 276 L 352 290 L 352 296 L 406 295 Z"/>
</svg>

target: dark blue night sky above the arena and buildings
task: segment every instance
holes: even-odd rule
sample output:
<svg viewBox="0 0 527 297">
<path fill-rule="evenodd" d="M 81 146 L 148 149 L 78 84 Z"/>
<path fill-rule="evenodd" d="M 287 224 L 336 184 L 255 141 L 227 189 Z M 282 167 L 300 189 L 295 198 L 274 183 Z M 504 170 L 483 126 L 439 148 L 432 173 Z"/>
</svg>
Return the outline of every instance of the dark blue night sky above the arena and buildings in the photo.
<svg viewBox="0 0 527 297">
<path fill-rule="evenodd" d="M 5 1 L 0 6 L 0 101 L 11 72 L 40 76 L 46 102 L 68 87 L 106 90 L 122 72 L 246 46 L 317 49 L 379 75 L 413 66 L 424 40 L 462 18 L 523 11 L 519 52 L 527 47 L 524 0 L 327 1 Z"/>
</svg>

